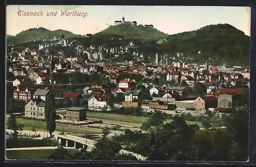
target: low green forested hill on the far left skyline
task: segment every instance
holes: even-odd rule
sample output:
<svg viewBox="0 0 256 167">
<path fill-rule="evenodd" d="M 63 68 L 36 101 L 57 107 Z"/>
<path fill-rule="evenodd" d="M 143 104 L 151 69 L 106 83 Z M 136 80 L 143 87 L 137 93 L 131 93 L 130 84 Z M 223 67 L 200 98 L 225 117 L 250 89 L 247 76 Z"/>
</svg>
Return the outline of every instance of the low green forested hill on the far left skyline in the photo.
<svg viewBox="0 0 256 167">
<path fill-rule="evenodd" d="M 67 38 L 80 37 L 81 35 L 73 34 L 66 30 L 55 30 L 51 31 L 44 27 L 32 28 L 25 30 L 17 34 L 16 36 L 7 35 L 7 44 L 20 44 L 26 43 L 33 40 L 42 40 L 43 38 L 53 38 L 54 36 L 65 35 Z"/>
</svg>

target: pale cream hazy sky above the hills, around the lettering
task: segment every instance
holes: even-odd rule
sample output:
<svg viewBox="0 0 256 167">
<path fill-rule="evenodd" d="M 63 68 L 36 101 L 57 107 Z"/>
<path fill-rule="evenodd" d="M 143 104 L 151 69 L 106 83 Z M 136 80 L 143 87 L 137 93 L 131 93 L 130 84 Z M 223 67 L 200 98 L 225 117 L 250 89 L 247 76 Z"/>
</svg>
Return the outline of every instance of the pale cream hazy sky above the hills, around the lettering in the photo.
<svg viewBox="0 0 256 167">
<path fill-rule="evenodd" d="M 42 12 L 42 16 L 18 16 L 18 11 Z M 60 16 L 61 11 L 87 12 L 88 16 Z M 56 16 L 46 16 L 56 12 Z M 153 24 L 166 34 L 197 30 L 209 24 L 228 23 L 250 36 L 249 7 L 195 7 L 195 6 L 7 6 L 6 33 L 16 35 L 31 27 L 49 30 L 63 29 L 74 34 L 94 34 L 114 25 L 115 20 Z"/>
</svg>

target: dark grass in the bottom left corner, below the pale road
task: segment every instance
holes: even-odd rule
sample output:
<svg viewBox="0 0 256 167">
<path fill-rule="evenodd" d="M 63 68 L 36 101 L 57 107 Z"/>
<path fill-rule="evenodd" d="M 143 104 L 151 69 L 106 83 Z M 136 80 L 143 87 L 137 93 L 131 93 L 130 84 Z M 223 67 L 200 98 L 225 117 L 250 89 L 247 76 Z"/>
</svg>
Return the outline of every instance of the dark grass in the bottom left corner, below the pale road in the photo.
<svg viewBox="0 0 256 167">
<path fill-rule="evenodd" d="M 49 160 L 48 156 L 52 149 L 38 149 L 38 150 L 7 150 L 7 159 L 12 160 Z M 76 149 L 68 149 L 71 155 L 78 153 Z"/>
</svg>

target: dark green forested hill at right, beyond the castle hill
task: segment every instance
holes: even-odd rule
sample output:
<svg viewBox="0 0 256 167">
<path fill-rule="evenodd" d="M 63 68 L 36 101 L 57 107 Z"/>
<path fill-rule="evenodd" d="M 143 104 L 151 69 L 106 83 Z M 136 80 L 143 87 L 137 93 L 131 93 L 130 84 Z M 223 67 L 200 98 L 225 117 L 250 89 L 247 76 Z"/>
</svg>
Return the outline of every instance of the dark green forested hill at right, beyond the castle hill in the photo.
<svg viewBox="0 0 256 167">
<path fill-rule="evenodd" d="M 230 24 L 207 25 L 196 31 L 169 35 L 162 47 L 198 60 L 215 60 L 216 56 L 229 64 L 244 65 L 249 65 L 250 60 L 250 37 Z"/>
</svg>

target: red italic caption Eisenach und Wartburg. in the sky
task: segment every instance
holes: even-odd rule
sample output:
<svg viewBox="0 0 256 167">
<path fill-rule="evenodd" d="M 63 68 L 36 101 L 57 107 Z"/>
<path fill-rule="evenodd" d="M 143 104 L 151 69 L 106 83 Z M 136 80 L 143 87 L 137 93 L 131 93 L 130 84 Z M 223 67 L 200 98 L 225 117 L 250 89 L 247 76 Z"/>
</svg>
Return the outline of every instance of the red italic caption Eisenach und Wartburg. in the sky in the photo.
<svg viewBox="0 0 256 167">
<path fill-rule="evenodd" d="M 18 16 L 79 16 L 79 17 L 87 17 L 87 12 L 78 12 L 78 11 L 56 11 L 56 12 L 29 12 L 19 10 L 17 12 Z"/>
</svg>

